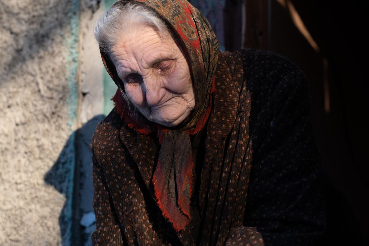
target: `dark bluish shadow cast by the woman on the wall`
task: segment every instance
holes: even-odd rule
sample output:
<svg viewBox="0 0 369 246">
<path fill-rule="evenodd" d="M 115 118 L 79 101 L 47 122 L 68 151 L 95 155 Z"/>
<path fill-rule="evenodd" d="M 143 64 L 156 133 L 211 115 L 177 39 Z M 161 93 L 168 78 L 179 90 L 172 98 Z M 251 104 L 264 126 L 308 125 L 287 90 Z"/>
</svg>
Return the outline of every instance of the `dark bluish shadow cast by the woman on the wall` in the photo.
<svg viewBox="0 0 369 246">
<path fill-rule="evenodd" d="M 91 245 L 95 230 L 92 207 L 92 153 L 90 141 L 104 115 L 96 115 L 74 131 L 66 141 L 58 159 L 45 173 L 45 183 L 65 196 L 59 215 L 62 245 Z"/>
</svg>

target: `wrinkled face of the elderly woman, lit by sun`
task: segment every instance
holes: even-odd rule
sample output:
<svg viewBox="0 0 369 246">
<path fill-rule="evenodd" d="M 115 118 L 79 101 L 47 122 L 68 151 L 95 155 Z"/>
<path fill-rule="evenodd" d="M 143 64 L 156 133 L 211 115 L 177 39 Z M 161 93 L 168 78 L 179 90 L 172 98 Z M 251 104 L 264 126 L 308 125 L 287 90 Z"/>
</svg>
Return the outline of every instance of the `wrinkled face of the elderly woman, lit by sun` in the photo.
<svg viewBox="0 0 369 246">
<path fill-rule="evenodd" d="M 147 119 L 167 127 L 182 122 L 195 106 L 186 58 L 172 37 L 164 41 L 151 27 L 126 31 L 110 58 L 128 99 Z"/>
</svg>

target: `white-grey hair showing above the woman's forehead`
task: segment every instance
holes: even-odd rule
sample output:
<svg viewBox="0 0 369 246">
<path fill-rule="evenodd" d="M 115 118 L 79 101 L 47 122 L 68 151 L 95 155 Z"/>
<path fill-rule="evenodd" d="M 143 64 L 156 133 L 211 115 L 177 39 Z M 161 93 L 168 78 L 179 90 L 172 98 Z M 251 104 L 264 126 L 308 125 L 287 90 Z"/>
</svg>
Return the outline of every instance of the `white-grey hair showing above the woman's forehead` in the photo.
<svg viewBox="0 0 369 246">
<path fill-rule="evenodd" d="M 100 49 L 110 55 L 111 47 L 122 33 L 144 26 L 154 28 L 161 38 L 172 37 L 169 27 L 154 10 L 134 2 L 109 8 L 97 21 L 94 36 Z"/>
</svg>

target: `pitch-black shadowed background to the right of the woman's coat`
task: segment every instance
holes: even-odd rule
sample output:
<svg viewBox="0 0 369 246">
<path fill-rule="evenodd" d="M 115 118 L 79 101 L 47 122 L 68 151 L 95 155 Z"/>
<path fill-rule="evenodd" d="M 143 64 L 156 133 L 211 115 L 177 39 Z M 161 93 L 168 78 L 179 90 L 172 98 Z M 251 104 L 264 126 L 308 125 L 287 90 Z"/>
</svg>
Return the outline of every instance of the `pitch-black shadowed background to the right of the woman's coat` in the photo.
<svg viewBox="0 0 369 246">
<path fill-rule="evenodd" d="M 368 187 L 365 178 L 368 131 L 363 116 L 367 111 L 368 91 L 367 38 L 363 35 L 368 22 L 365 14 L 368 3 L 357 0 L 349 3 L 332 0 L 291 2 L 320 52 L 308 44 L 287 9 L 277 1 L 272 1 L 268 50 L 295 62 L 308 78 L 314 136 L 323 171 L 327 173 L 328 236 L 330 240 L 335 237 L 331 242 L 343 245 L 350 237 L 355 241 L 368 231 L 368 201 L 363 196 Z M 323 57 L 328 60 L 325 72 L 329 84 L 329 112 L 324 111 Z M 354 245 L 354 241 L 349 244 Z"/>
</svg>

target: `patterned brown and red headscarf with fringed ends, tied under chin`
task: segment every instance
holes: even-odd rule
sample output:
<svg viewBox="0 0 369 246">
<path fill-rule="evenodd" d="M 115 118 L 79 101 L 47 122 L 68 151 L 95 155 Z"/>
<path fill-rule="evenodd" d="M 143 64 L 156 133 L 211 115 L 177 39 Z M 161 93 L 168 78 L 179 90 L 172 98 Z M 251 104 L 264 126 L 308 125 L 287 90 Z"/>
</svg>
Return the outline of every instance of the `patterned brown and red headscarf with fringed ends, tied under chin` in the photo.
<svg viewBox="0 0 369 246">
<path fill-rule="evenodd" d="M 199 132 L 210 114 L 211 93 L 214 91 L 214 75 L 219 52 L 218 39 L 206 18 L 187 0 L 120 0 L 113 6 L 130 1 L 144 4 L 169 25 L 184 48 L 190 65 L 195 108 L 177 127 L 165 128 L 140 120 L 140 117 L 130 117 L 127 102 L 119 89 L 124 88 L 123 82 L 118 77 L 109 55 L 100 49 L 104 66 L 118 86 L 117 93 L 112 98 L 115 110 L 124 118 L 128 127 L 138 134 L 158 133 L 161 148 L 152 183 L 163 216 L 172 222 L 178 232 L 191 219 L 189 206 L 194 164 L 189 135 Z"/>
</svg>

